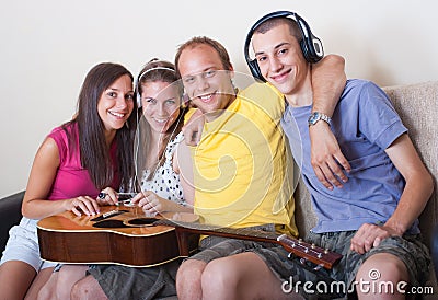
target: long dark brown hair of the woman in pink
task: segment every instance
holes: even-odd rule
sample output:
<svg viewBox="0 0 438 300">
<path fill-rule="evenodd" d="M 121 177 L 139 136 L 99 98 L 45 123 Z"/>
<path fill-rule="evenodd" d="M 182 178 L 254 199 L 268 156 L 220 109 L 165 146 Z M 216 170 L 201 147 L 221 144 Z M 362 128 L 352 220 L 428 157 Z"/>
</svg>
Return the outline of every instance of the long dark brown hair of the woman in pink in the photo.
<svg viewBox="0 0 438 300">
<path fill-rule="evenodd" d="M 70 149 L 77 145 L 79 138 L 79 151 L 82 168 L 87 169 L 91 181 L 97 189 L 110 186 L 115 172 L 120 178 L 120 188 L 129 188 L 130 180 L 135 175 L 134 168 L 134 138 L 136 131 L 136 114 L 131 113 L 124 127 L 117 130 L 115 139 L 117 146 L 118 170 L 113 170 L 110 148 L 105 141 L 104 125 L 97 113 L 97 103 L 103 92 L 122 76 L 132 74 L 122 65 L 102 62 L 94 66 L 87 74 L 78 97 L 76 117 L 66 123 L 65 128 L 69 137 Z M 134 112 L 137 108 L 134 104 Z M 79 137 L 69 134 L 67 127 L 78 126 Z"/>
</svg>

